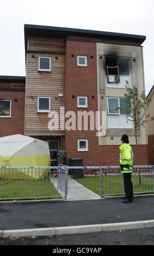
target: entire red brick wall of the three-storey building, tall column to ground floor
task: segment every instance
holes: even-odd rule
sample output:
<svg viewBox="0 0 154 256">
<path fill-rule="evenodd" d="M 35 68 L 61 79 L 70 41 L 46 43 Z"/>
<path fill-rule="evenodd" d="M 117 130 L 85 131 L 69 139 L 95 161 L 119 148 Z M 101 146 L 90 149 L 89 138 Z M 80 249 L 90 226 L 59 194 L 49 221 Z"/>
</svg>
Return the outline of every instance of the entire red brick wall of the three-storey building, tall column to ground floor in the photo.
<svg viewBox="0 0 154 256">
<path fill-rule="evenodd" d="M 72 54 L 74 57 L 72 57 Z M 77 56 L 87 56 L 87 67 L 77 66 Z M 93 58 L 91 58 L 93 56 Z M 75 98 L 72 97 L 75 96 Z M 88 96 L 88 108 L 77 108 L 77 96 Z M 92 98 L 94 96 L 94 98 Z M 66 106 L 65 110 L 98 111 L 97 99 L 97 56 L 94 42 L 66 41 Z M 66 119 L 67 120 L 67 119 Z M 77 124 L 77 118 L 76 118 Z M 88 126 L 89 127 L 89 126 Z M 84 166 L 119 165 L 118 145 L 98 145 L 95 131 L 67 131 L 65 147 L 68 157 L 82 157 Z M 78 139 L 88 139 L 88 151 L 78 151 Z M 120 142 L 119 142 L 120 143 Z M 134 164 L 136 149 L 132 146 Z M 139 164 L 147 164 L 147 146 L 139 145 Z"/>
</svg>

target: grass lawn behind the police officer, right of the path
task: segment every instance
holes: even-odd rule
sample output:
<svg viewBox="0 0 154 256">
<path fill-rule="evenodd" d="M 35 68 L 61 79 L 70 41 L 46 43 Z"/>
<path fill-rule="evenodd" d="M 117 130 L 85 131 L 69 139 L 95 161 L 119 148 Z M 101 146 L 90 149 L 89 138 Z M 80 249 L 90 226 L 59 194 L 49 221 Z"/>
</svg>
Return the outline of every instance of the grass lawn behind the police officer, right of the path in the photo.
<svg viewBox="0 0 154 256">
<path fill-rule="evenodd" d="M 85 176 L 81 179 L 74 179 L 83 186 L 89 188 L 100 195 L 100 176 Z M 132 175 L 133 193 L 154 192 L 154 179 L 146 175 L 141 176 L 141 186 L 139 186 L 138 175 Z M 124 194 L 123 174 L 102 176 L 102 196 Z"/>
</svg>

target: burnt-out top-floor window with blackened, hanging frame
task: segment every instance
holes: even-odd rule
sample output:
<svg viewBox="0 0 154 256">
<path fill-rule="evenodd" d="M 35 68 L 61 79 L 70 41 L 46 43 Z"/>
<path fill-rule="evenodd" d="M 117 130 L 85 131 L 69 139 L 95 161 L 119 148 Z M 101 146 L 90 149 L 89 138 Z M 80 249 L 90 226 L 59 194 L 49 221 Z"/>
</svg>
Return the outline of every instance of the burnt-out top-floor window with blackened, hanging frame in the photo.
<svg viewBox="0 0 154 256">
<path fill-rule="evenodd" d="M 107 83 L 119 83 L 118 87 L 124 87 L 125 80 L 130 82 L 129 59 L 106 58 Z"/>
</svg>

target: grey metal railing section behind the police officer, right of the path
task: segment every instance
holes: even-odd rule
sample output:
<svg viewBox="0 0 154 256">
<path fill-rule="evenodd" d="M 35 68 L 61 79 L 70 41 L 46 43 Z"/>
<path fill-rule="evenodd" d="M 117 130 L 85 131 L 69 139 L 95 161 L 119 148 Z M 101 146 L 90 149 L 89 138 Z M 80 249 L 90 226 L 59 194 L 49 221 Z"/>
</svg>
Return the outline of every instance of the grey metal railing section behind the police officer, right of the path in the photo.
<svg viewBox="0 0 154 256">
<path fill-rule="evenodd" d="M 133 194 L 154 192 L 154 166 L 134 166 Z M 100 166 L 100 198 L 125 194 L 123 174 L 119 166 Z"/>
</svg>

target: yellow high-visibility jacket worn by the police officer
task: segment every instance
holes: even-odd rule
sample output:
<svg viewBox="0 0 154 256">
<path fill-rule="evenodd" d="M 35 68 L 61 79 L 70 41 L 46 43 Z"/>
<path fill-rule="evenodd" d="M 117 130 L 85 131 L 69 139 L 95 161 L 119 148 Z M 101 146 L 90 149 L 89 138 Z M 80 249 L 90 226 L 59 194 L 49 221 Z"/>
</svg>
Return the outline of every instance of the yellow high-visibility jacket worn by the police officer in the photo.
<svg viewBox="0 0 154 256">
<path fill-rule="evenodd" d="M 133 152 L 130 144 L 124 143 L 120 147 L 120 164 L 129 164 L 129 168 L 124 167 L 121 173 L 132 173 Z"/>
</svg>

